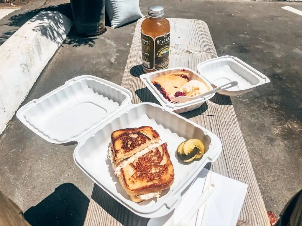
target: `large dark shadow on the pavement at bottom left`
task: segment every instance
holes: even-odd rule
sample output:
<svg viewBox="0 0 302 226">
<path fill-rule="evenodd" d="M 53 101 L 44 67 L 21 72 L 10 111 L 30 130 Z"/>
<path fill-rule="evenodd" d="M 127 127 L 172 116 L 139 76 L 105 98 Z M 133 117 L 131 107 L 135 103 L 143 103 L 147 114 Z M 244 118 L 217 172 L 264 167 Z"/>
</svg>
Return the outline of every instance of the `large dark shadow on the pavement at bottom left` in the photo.
<svg viewBox="0 0 302 226">
<path fill-rule="evenodd" d="M 24 213 L 32 226 L 83 225 L 89 199 L 74 184 L 65 183 Z"/>
</svg>

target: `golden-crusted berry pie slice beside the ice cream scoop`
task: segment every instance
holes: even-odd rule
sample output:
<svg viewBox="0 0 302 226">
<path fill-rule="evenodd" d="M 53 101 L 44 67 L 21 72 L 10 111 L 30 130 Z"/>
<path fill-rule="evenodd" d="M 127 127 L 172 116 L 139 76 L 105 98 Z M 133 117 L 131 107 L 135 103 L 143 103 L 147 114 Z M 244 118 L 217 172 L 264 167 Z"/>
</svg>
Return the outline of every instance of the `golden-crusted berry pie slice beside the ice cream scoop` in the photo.
<svg viewBox="0 0 302 226">
<path fill-rule="evenodd" d="M 170 74 L 161 75 L 151 82 L 159 90 L 162 96 L 167 100 L 172 100 L 178 96 L 185 96 L 181 92 L 182 86 L 188 83 L 189 73 L 175 72 Z"/>
</svg>

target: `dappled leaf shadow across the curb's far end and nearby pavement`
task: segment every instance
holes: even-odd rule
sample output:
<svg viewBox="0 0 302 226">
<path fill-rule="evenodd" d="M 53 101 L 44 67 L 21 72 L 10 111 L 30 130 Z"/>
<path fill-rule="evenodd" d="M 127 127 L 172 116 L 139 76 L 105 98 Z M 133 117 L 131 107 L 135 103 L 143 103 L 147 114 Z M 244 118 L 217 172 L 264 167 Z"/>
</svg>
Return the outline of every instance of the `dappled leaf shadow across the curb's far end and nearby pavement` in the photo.
<svg viewBox="0 0 302 226">
<path fill-rule="evenodd" d="M 20 13 L 17 15 L 13 15 L 8 19 L 8 23 L 3 24 L 10 29 L 8 31 L 2 33 L 0 35 L 0 45 L 3 44 L 10 36 L 12 36 L 23 24 L 27 21 L 33 22 L 34 20 L 38 21 L 37 26 L 33 29 L 34 31 L 40 31 L 41 35 L 47 37 L 48 39 L 52 40 L 53 42 L 58 42 L 58 40 L 63 39 L 62 34 L 59 32 L 54 32 L 54 26 L 63 27 L 63 16 L 56 14 L 56 22 L 57 24 L 48 24 L 46 23 L 46 19 L 49 18 L 49 13 L 40 13 L 42 11 L 57 11 L 70 20 L 73 21 L 72 18 L 72 11 L 70 7 L 70 3 L 65 3 L 56 6 L 48 6 L 44 8 L 38 8 L 35 10 L 27 11 L 24 13 Z M 39 14 L 40 13 L 40 14 Z M 39 14 L 39 15 L 37 15 Z M 36 17 L 35 17 L 36 16 Z M 35 18 L 33 18 L 35 17 Z M 66 39 L 63 41 L 62 46 L 64 45 L 71 45 L 73 47 L 79 46 L 89 46 L 92 47 L 95 45 L 95 37 L 82 37 L 76 34 L 74 26 L 71 28 L 70 32 L 67 34 Z"/>
</svg>

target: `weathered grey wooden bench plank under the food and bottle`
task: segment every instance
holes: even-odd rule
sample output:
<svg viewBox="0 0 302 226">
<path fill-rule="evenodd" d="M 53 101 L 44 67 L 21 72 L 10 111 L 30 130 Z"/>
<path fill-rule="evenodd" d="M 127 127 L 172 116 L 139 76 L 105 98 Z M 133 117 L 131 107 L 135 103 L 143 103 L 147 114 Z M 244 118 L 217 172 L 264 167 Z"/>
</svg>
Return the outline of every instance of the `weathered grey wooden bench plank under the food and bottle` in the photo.
<svg viewBox="0 0 302 226">
<path fill-rule="evenodd" d="M 132 103 L 158 103 L 139 78 L 143 74 L 140 33 L 143 20 L 138 20 L 136 25 L 122 86 L 133 93 Z M 198 63 L 217 57 L 210 31 L 204 21 L 178 18 L 170 18 L 169 21 L 169 67 L 188 67 L 196 71 Z M 223 151 L 212 164 L 211 170 L 248 184 L 237 224 L 270 225 L 230 97 L 216 94 L 201 108 L 182 115 L 220 137 Z M 130 212 L 95 184 L 84 225 L 146 225 L 148 220 Z"/>
</svg>

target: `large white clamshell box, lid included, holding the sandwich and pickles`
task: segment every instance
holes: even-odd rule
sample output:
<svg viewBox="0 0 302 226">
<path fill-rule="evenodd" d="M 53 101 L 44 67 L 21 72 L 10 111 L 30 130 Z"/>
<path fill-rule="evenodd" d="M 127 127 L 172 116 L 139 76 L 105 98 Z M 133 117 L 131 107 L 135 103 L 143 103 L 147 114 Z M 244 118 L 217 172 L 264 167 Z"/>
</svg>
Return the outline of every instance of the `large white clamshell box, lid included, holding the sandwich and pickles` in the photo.
<svg viewBox="0 0 302 226">
<path fill-rule="evenodd" d="M 183 191 L 208 163 L 222 151 L 220 139 L 190 120 L 154 103 L 131 104 L 129 90 L 107 80 L 84 75 L 32 100 L 17 111 L 18 119 L 43 139 L 56 144 L 77 142 L 74 161 L 85 174 L 130 211 L 146 218 L 169 214 L 181 202 Z M 167 142 L 175 170 L 170 189 L 158 199 L 132 202 L 121 187 L 107 157 L 114 130 L 152 126 Z M 198 138 L 204 156 L 185 164 L 175 157 L 185 139 Z"/>
</svg>

